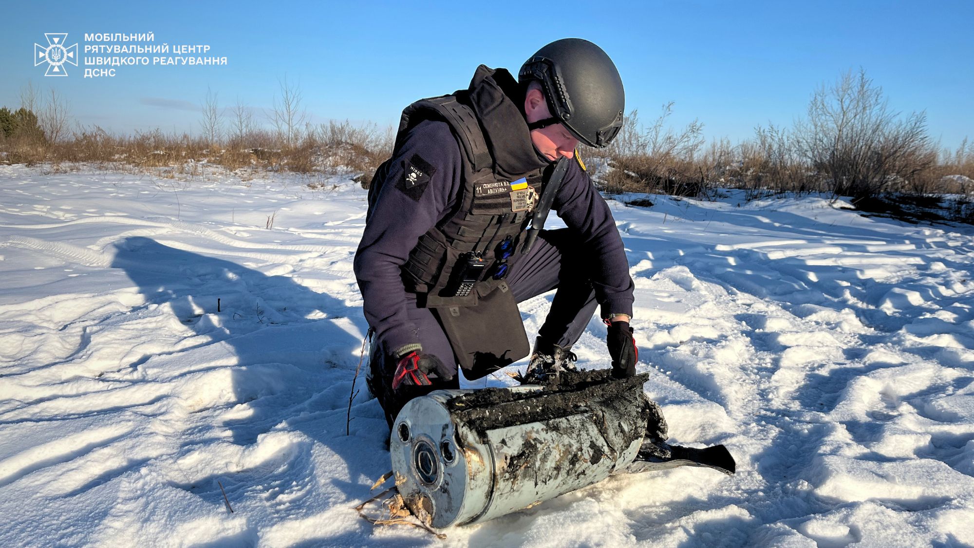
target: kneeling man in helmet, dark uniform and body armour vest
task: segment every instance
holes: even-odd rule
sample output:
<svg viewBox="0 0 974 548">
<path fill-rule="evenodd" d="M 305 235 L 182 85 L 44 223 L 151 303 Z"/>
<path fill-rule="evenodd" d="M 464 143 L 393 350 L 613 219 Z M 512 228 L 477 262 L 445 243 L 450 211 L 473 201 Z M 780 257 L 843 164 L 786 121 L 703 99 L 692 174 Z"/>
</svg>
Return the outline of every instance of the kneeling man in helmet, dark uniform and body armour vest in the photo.
<svg viewBox="0 0 974 548">
<path fill-rule="evenodd" d="M 618 70 L 569 38 L 518 80 L 480 65 L 467 90 L 406 107 L 393 157 L 373 177 L 355 259 L 375 331 L 369 388 L 390 424 L 411 398 L 528 355 L 517 303 L 557 288 L 524 382 L 574 369 L 596 307 L 618 377 L 635 373 L 633 282 L 615 220 L 576 147 L 622 124 Z M 554 209 L 568 228 L 542 230 Z"/>
</svg>

